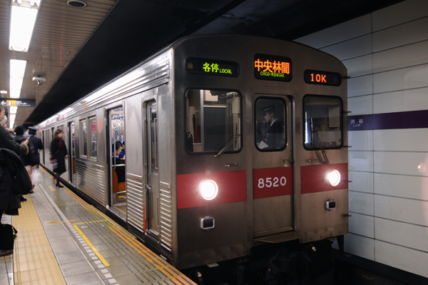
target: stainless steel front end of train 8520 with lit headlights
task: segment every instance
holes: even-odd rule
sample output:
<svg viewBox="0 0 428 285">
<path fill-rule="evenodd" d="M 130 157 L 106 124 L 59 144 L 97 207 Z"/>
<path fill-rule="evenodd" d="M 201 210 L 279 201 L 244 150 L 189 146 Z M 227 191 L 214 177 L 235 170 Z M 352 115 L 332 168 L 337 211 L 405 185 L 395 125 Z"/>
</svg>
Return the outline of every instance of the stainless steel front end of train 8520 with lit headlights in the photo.
<svg viewBox="0 0 428 285">
<path fill-rule="evenodd" d="M 252 36 L 189 37 L 172 53 L 173 264 L 347 234 L 345 66 Z"/>
</svg>

